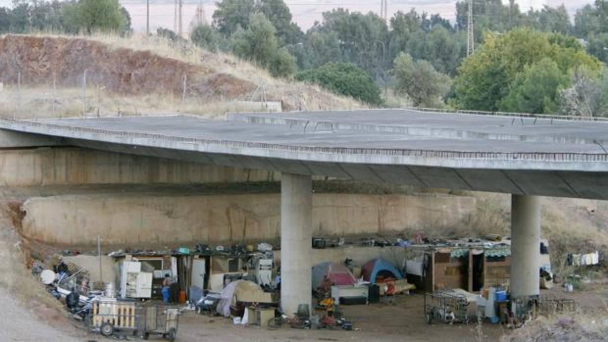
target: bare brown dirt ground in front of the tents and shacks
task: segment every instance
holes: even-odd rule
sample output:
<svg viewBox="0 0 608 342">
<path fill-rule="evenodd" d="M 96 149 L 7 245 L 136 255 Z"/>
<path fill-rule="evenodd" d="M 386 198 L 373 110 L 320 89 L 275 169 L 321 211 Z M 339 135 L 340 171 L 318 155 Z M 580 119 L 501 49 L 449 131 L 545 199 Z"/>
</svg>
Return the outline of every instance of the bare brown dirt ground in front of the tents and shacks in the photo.
<svg viewBox="0 0 608 342">
<path fill-rule="evenodd" d="M 180 341 L 497 341 L 507 332 L 499 325 L 424 323 L 423 296 L 398 298 L 395 305 L 343 306 L 351 331 L 336 329 L 299 330 L 286 326 L 276 330 L 235 326 L 230 320 L 188 312 L 181 316 Z"/>
</svg>

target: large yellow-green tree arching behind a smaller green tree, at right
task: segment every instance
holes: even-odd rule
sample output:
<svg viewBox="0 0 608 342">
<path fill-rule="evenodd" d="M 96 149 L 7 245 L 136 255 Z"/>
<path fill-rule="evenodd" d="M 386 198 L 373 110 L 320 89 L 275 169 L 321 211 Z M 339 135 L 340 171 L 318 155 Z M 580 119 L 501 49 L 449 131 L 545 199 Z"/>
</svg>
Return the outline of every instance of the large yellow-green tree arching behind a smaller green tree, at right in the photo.
<svg viewBox="0 0 608 342">
<path fill-rule="evenodd" d="M 599 70 L 598 60 L 575 38 L 557 33 L 516 29 L 503 35 L 489 33 L 484 41 L 458 68 L 454 81 L 458 108 L 499 110 L 517 75 L 544 58 L 553 60 L 562 74 L 578 66 Z"/>
</svg>

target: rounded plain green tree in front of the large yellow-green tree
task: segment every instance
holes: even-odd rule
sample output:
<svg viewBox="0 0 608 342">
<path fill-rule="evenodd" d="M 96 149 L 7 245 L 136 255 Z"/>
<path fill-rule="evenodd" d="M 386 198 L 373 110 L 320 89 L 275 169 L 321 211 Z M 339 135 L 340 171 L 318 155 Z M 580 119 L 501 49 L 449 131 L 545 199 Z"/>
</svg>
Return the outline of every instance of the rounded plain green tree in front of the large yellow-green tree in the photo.
<svg viewBox="0 0 608 342">
<path fill-rule="evenodd" d="M 556 114 L 559 111 L 558 94 L 570 79 L 549 59 L 526 66 L 511 84 L 509 94 L 501 101 L 505 112 Z"/>
</svg>

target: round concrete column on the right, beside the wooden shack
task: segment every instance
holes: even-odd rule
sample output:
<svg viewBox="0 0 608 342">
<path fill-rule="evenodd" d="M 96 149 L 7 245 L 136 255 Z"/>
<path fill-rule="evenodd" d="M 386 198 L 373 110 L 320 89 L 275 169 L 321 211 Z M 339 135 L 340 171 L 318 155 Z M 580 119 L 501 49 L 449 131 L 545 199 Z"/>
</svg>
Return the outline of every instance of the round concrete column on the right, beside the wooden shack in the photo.
<svg viewBox="0 0 608 342">
<path fill-rule="evenodd" d="M 511 297 L 539 295 L 541 197 L 511 196 Z"/>
</svg>

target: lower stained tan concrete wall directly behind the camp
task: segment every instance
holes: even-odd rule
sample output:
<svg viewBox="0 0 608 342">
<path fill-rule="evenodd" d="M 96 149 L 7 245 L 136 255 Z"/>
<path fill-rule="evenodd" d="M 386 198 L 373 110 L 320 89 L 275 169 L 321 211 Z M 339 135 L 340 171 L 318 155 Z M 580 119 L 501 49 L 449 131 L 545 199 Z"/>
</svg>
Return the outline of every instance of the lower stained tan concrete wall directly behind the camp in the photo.
<svg viewBox="0 0 608 342">
<path fill-rule="evenodd" d="M 473 197 L 315 194 L 316 235 L 351 235 L 450 226 Z M 192 245 L 276 239 L 280 195 L 70 195 L 27 200 L 22 233 L 55 244 Z"/>
</svg>

